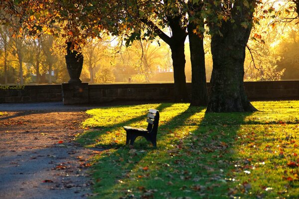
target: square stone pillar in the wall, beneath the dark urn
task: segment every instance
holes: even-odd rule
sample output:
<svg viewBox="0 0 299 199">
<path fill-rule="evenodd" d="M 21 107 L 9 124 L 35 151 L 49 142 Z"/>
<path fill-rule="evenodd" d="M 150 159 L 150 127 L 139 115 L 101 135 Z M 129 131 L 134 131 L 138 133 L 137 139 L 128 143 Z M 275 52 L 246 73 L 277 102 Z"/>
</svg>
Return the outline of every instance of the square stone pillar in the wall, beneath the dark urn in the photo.
<svg viewBox="0 0 299 199">
<path fill-rule="evenodd" d="M 63 105 L 88 104 L 88 83 L 62 83 Z"/>
</svg>

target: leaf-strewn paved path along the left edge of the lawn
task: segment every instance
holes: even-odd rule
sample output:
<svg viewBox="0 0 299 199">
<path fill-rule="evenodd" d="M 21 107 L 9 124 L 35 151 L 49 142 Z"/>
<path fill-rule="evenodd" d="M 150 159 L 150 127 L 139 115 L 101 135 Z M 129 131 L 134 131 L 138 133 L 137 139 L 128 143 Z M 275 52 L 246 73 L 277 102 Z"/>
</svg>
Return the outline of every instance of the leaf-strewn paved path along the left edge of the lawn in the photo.
<svg viewBox="0 0 299 199">
<path fill-rule="evenodd" d="M 89 158 L 97 149 L 73 142 L 88 106 L 0 104 L 0 199 L 84 199 Z"/>
</svg>

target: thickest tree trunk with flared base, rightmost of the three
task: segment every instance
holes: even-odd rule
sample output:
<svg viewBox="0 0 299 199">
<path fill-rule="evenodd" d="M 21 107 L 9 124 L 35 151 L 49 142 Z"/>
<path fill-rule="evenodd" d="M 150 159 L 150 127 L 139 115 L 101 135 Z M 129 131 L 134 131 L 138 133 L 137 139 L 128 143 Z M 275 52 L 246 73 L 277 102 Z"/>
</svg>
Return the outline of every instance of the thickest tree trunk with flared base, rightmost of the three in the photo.
<svg viewBox="0 0 299 199">
<path fill-rule="evenodd" d="M 242 18 L 239 18 L 234 23 L 223 20 L 219 29 L 223 35 L 212 35 L 212 93 L 206 112 L 257 111 L 249 102 L 243 85 L 245 47 L 251 26 L 241 26 Z"/>
</svg>

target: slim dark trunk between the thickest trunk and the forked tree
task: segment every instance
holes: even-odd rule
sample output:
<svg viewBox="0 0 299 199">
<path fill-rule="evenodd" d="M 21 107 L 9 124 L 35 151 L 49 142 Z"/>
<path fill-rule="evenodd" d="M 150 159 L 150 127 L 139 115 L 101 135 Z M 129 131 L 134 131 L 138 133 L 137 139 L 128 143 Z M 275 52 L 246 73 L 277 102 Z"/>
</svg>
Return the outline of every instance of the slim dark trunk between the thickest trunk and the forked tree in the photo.
<svg viewBox="0 0 299 199">
<path fill-rule="evenodd" d="M 203 19 L 202 19 L 203 20 Z M 203 21 L 202 21 L 203 24 Z M 203 38 L 193 33 L 196 24 L 189 22 L 188 35 L 192 69 L 191 106 L 207 106 L 208 91 L 205 73 Z"/>
</svg>

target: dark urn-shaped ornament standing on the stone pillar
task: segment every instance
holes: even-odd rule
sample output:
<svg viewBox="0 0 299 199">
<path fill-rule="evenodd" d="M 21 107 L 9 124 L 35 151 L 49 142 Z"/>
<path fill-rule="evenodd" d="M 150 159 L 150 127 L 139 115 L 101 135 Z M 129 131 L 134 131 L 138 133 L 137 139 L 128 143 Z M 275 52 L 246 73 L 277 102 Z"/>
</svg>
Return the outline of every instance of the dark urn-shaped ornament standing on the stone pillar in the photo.
<svg viewBox="0 0 299 199">
<path fill-rule="evenodd" d="M 70 75 L 68 83 L 81 83 L 80 75 L 83 66 L 83 55 L 75 50 L 71 50 L 72 42 L 66 42 L 66 44 L 67 55 L 65 55 L 65 62 Z"/>
</svg>

